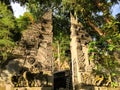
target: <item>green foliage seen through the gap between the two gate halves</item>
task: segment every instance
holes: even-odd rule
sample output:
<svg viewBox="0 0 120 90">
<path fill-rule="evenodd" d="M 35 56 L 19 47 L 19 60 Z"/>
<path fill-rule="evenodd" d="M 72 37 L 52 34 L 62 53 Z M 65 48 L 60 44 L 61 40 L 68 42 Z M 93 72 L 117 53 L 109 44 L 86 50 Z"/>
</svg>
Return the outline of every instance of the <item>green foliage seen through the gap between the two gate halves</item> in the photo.
<svg viewBox="0 0 120 90">
<path fill-rule="evenodd" d="M 60 9 L 53 16 L 54 56 L 56 59 L 58 58 L 59 46 L 61 62 L 70 60 L 70 23 L 68 17 L 68 13 L 62 13 Z"/>
</svg>

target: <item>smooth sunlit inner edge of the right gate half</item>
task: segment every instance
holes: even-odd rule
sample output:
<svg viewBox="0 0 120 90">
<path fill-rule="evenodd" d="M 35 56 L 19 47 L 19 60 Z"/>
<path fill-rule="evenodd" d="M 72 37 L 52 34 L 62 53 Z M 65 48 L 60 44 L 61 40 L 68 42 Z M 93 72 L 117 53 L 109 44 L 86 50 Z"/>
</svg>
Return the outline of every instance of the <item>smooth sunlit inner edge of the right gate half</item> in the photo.
<svg viewBox="0 0 120 90">
<path fill-rule="evenodd" d="M 73 88 L 78 83 L 78 58 L 77 58 L 77 36 L 75 32 L 74 26 L 77 24 L 76 19 L 71 15 L 71 42 L 70 42 L 70 49 L 71 49 L 71 60 L 72 60 L 72 82 Z M 74 89 L 73 89 L 74 90 Z"/>
</svg>

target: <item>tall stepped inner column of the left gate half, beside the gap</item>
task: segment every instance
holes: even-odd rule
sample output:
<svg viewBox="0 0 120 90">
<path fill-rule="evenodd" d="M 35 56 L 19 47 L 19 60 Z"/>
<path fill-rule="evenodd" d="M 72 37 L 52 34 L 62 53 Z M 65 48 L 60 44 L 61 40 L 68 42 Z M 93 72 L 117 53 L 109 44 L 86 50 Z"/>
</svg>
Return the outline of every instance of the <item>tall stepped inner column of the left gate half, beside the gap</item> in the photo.
<svg viewBox="0 0 120 90">
<path fill-rule="evenodd" d="M 36 59 L 44 64 L 46 69 L 52 69 L 52 11 L 48 11 L 42 17 L 41 21 L 41 35 L 42 39 L 39 43 L 38 53 Z M 49 71 L 49 70 L 48 70 Z"/>
</svg>

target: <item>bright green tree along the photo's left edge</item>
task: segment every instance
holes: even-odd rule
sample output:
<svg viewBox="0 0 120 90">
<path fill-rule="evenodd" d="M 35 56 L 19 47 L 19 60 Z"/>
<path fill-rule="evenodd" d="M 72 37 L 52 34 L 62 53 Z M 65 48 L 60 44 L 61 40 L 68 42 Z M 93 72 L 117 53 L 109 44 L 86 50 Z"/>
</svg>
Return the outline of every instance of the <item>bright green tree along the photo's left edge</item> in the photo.
<svg viewBox="0 0 120 90">
<path fill-rule="evenodd" d="M 15 28 L 14 17 L 4 3 L 0 2 L 0 63 L 7 59 L 14 46 L 11 33 Z"/>
</svg>

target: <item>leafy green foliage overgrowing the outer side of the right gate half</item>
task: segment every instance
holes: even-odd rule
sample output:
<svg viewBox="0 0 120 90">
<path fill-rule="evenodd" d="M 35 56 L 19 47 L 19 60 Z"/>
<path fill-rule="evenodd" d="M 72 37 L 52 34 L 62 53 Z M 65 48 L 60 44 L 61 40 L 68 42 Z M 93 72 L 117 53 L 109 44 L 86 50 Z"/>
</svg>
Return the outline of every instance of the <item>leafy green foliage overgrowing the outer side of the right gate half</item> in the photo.
<svg viewBox="0 0 120 90">
<path fill-rule="evenodd" d="M 118 82 L 115 78 L 120 75 L 120 63 L 114 56 L 114 51 L 120 49 L 116 44 L 109 44 L 102 40 L 95 40 L 89 43 L 89 59 L 95 63 L 94 73 L 103 74 L 106 78 L 111 76 L 111 87 L 117 87 Z"/>
</svg>

